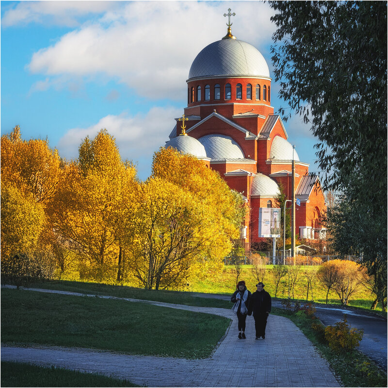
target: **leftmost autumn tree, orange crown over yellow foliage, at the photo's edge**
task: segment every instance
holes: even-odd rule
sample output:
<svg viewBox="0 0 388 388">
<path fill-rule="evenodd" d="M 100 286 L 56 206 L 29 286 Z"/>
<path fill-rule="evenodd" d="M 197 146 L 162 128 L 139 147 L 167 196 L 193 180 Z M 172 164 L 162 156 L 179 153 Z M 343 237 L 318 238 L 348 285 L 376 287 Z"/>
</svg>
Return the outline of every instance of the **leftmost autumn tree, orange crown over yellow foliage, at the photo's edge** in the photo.
<svg viewBox="0 0 388 388">
<path fill-rule="evenodd" d="M 16 126 L 1 137 L 1 271 L 15 278 L 48 275 L 54 258 L 40 262 L 42 236 L 49 230 L 45 209 L 61 176 L 61 160 L 46 140 L 24 141 Z M 32 261 L 34 268 L 32 271 Z M 47 264 L 49 264 L 47 266 Z M 50 269 L 51 271 L 51 269 Z"/>
</svg>

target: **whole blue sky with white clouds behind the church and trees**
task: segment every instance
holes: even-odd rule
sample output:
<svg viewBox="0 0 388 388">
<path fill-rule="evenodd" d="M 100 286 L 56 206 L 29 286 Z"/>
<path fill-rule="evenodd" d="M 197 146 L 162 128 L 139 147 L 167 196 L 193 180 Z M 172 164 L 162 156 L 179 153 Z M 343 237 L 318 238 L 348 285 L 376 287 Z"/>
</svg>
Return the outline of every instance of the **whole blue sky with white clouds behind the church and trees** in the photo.
<svg viewBox="0 0 388 388">
<path fill-rule="evenodd" d="M 85 136 L 106 128 L 123 160 L 151 172 L 187 105 L 186 80 L 201 49 L 232 32 L 263 54 L 273 77 L 273 11 L 258 1 L 1 1 L 1 135 L 46 137 L 76 159 Z M 286 103 L 276 95 L 275 112 Z M 317 140 L 299 116 L 285 123 L 302 162 L 318 171 Z"/>
</svg>

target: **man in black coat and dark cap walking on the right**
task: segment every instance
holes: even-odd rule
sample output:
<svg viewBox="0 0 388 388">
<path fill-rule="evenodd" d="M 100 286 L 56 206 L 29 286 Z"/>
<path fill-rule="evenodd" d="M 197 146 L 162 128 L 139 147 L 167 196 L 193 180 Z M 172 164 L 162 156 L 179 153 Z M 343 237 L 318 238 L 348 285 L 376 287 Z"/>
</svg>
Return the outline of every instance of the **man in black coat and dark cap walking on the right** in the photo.
<svg viewBox="0 0 388 388">
<path fill-rule="evenodd" d="M 264 284 L 259 282 L 258 290 L 255 291 L 248 306 L 248 315 L 253 312 L 255 318 L 256 339 L 265 338 L 265 326 L 267 325 L 267 318 L 271 312 L 271 296 L 267 291 L 264 291 Z"/>
</svg>

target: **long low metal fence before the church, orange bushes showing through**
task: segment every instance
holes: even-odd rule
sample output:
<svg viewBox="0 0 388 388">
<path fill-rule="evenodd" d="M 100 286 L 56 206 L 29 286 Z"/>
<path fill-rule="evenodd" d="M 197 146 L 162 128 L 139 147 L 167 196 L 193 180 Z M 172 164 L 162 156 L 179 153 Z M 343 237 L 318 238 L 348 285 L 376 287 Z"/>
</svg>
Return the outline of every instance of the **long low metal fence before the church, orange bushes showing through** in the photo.
<svg viewBox="0 0 388 388">
<path fill-rule="evenodd" d="M 293 265 L 294 259 L 291 256 L 283 257 L 283 251 L 276 251 L 277 256 L 273 256 L 272 252 L 263 251 L 258 252 L 253 255 L 245 255 L 245 256 L 236 256 L 236 257 L 226 257 L 224 259 L 225 265 L 234 265 L 235 262 L 239 262 L 240 264 L 254 264 L 257 261 L 257 258 L 260 256 L 262 264 L 283 264 L 283 265 Z M 360 261 L 359 256 L 345 256 L 339 257 L 335 255 L 324 255 L 324 256 L 307 256 L 307 255 L 295 255 L 295 263 L 303 264 L 303 265 L 321 265 L 325 261 L 334 260 L 334 259 L 343 259 L 343 260 L 351 260 L 351 261 Z"/>
</svg>

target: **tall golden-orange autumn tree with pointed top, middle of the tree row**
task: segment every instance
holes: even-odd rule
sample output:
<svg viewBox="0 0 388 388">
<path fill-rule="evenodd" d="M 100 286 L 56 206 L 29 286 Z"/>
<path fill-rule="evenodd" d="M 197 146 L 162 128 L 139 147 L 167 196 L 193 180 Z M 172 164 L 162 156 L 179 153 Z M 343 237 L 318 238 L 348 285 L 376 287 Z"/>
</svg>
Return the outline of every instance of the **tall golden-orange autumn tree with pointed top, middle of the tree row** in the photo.
<svg viewBox="0 0 388 388">
<path fill-rule="evenodd" d="M 93 141 L 86 137 L 78 161 L 65 167 L 49 214 L 54 229 L 80 255 L 81 277 L 107 282 L 120 277 L 121 236 L 132 219 L 135 176 L 105 129 Z"/>
</svg>

